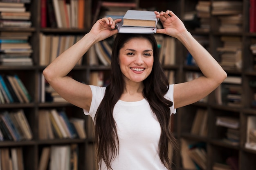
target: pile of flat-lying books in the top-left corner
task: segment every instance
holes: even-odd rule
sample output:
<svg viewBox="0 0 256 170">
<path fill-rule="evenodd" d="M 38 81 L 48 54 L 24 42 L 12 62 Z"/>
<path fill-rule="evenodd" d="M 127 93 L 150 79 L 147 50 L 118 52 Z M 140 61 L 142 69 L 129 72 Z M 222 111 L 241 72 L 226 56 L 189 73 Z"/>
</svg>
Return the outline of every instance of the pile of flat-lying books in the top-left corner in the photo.
<svg viewBox="0 0 256 170">
<path fill-rule="evenodd" d="M 0 27 L 31 27 L 31 13 L 27 11 L 25 2 L 0 2 Z"/>
</svg>

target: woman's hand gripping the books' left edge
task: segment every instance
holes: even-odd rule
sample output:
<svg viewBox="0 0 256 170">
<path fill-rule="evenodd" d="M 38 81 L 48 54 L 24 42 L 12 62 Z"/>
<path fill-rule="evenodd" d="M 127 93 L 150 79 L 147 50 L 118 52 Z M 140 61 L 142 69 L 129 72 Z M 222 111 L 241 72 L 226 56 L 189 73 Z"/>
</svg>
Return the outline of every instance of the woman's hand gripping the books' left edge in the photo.
<svg viewBox="0 0 256 170">
<path fill-rule="evenodd" d="M 117 29 L 115 29 L 118 22 L 121 22 L 121 19 L 114 21 L 111 17 L 101 18 L 92 26 L 89 33 L 94 34 L 97 41 L 104 40 L 118 33 Z"/>
</svg>

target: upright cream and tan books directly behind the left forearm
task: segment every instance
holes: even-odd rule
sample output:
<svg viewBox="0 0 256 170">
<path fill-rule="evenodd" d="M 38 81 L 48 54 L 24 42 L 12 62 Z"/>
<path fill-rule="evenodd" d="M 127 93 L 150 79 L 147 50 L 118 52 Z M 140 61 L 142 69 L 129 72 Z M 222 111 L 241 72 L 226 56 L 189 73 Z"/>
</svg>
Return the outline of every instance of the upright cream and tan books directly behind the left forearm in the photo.
<svg viewBox="0 0 256 170">
<path fill-rule="evenodd" d="M 83 35 L 44 35 L 40 33 L 39 65 L 48 65 L 82 37 Z M 81 58 L 77 65 L 81 65 L 82 61 Z"/>
</svg>

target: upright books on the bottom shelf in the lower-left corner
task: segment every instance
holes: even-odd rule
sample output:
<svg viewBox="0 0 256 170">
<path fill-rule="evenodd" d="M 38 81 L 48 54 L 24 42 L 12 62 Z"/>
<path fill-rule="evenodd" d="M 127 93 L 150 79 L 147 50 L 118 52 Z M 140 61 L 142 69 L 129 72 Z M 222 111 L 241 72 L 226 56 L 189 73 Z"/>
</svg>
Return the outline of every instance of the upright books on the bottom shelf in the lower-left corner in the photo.
<svg viewBox="0 0 256 170">
<path fill-rule="evenodd" d="M 1 170 L 24 170 L 22 148 L 0 148 L 0 165 Z"/>
</svg>

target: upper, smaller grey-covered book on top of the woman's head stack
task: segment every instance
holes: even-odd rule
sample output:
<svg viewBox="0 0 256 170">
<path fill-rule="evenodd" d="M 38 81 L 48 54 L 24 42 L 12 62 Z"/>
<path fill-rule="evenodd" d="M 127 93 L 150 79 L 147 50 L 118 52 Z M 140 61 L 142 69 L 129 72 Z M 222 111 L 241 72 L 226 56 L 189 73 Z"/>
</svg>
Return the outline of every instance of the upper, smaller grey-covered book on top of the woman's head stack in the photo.
<svg viewBox="0 0 256 170">
<path fill-rule="evenodd" d="M 158 18 L 154 11 L 128 10 L 123 17 L 123 26 L 141 26 L 155 28 Z"/>
</svg>

